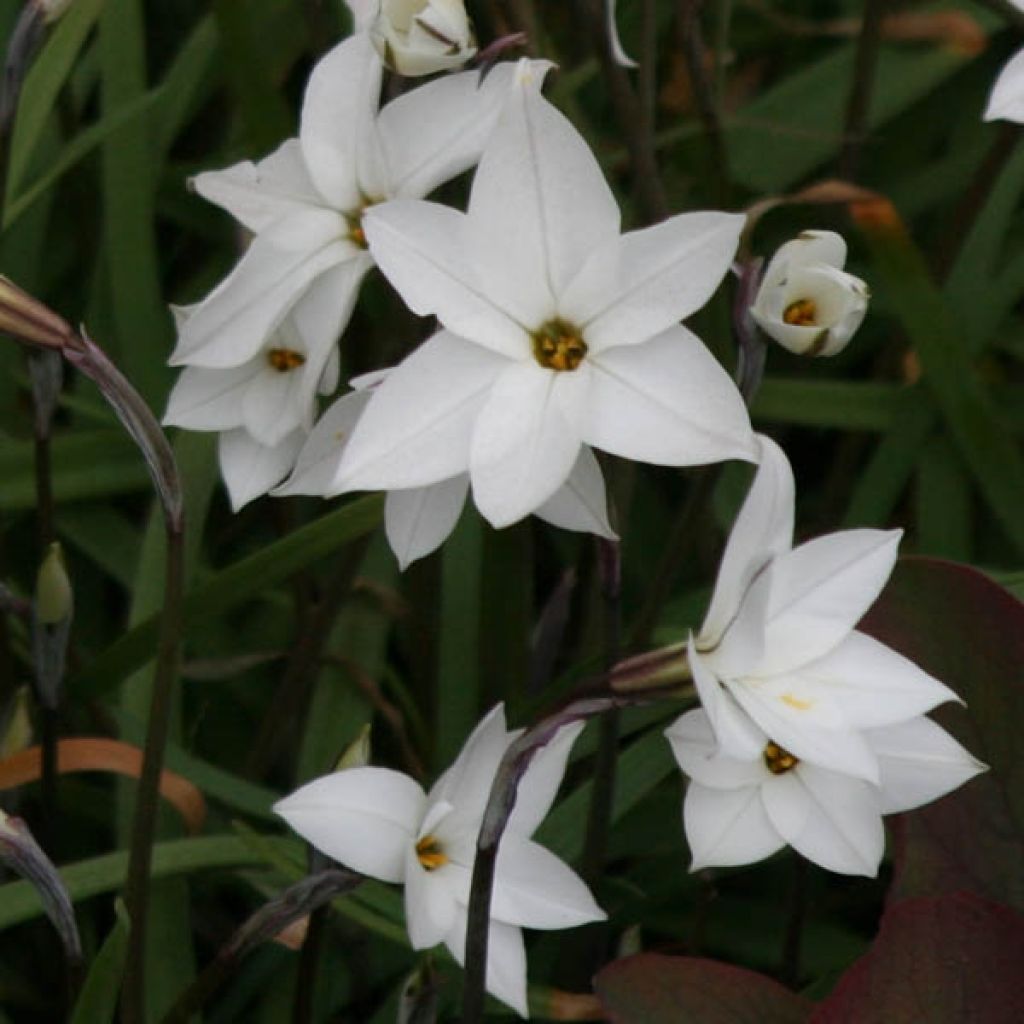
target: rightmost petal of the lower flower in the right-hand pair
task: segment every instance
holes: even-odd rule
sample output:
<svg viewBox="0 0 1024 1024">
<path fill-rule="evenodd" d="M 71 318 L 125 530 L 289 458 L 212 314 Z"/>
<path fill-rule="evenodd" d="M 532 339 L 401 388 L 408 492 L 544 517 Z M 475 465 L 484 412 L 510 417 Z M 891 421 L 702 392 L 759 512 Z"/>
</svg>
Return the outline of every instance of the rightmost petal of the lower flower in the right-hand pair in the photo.
<svg viewBox="0 0 1024 1024">
<path fill-rule="evenodd" d="M 870 729 L 866 737 L 879 758 L 883 814 L 912 811 L 987 770 L 945 729 L 924 717 Z"/>
</svg>

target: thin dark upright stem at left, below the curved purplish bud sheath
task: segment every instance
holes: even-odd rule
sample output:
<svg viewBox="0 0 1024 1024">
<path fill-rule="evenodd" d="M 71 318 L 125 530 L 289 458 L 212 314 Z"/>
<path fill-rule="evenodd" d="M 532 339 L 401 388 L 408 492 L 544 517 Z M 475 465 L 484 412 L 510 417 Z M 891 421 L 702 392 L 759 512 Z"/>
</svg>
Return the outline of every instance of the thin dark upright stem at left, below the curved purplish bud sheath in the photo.
<svg viewBox="0 0 1024 1024">
<path fill-rule="evenodd" d="M 164 610 L 125 881 L 125 905 L 131 919 L 121 1004 L 125 1024 L 141 1024 L 145 1020 L 145 928 L 150 865 L 157 828 L 160 775 L 164 767 L 164 753 L 171 725 L 172 695 L 178 675 L 183 585 L 184 518 L 179 514 L 176 520 L 167 518 Z"/>
</svg>

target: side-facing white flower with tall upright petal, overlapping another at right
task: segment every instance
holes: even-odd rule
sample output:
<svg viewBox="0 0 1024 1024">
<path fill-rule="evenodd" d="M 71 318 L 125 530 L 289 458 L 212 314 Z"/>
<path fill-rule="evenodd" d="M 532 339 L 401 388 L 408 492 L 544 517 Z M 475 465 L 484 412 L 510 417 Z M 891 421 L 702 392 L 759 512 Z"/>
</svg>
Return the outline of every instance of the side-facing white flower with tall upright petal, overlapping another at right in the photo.
<svg viewBox="0 0 1024 1024">
<path fill-rule="evenodd" d="M 850 529 L 793 547 L 793 470 L 759 435 L 761 462 L 726 544 L 688 656 L 723 754 L 760 757 L 765 735 L 806 762 L 879 781 L 862 731 L 956 695 L 855 629 L 896 562 L 899 530 Z"/>
</svg>

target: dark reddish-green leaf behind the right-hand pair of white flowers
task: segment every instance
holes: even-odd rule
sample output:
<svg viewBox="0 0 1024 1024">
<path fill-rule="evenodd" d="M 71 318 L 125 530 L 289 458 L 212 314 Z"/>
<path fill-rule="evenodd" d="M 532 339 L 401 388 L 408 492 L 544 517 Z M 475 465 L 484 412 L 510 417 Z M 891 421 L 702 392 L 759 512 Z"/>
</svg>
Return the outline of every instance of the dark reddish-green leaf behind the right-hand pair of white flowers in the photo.
<svg viewBox="0 0 1024 1024">
<path fill-rule="evenodd" d="M 860 628 L 964 697 L 934 717 L 992 769 L 895 820 L 890 898 L 970 889 L 1024 908 L 1024 604 L 975 569 L 908 558 Z"/>
</svg>

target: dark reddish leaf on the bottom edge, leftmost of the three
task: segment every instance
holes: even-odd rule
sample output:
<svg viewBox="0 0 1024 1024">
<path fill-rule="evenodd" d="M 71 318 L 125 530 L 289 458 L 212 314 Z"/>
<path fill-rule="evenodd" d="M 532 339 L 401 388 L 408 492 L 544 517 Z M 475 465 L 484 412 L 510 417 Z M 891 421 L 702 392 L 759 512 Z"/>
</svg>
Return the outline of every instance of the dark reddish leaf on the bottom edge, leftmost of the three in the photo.
<svg viewBox="0 0 1024 1024">
<path fill-rule="evenodd" d="M 811 1004 L 743 968 L 695 956 L 640 953 L 594 978 L 611 1024 L 803 1024 Z"/>
</svg>

